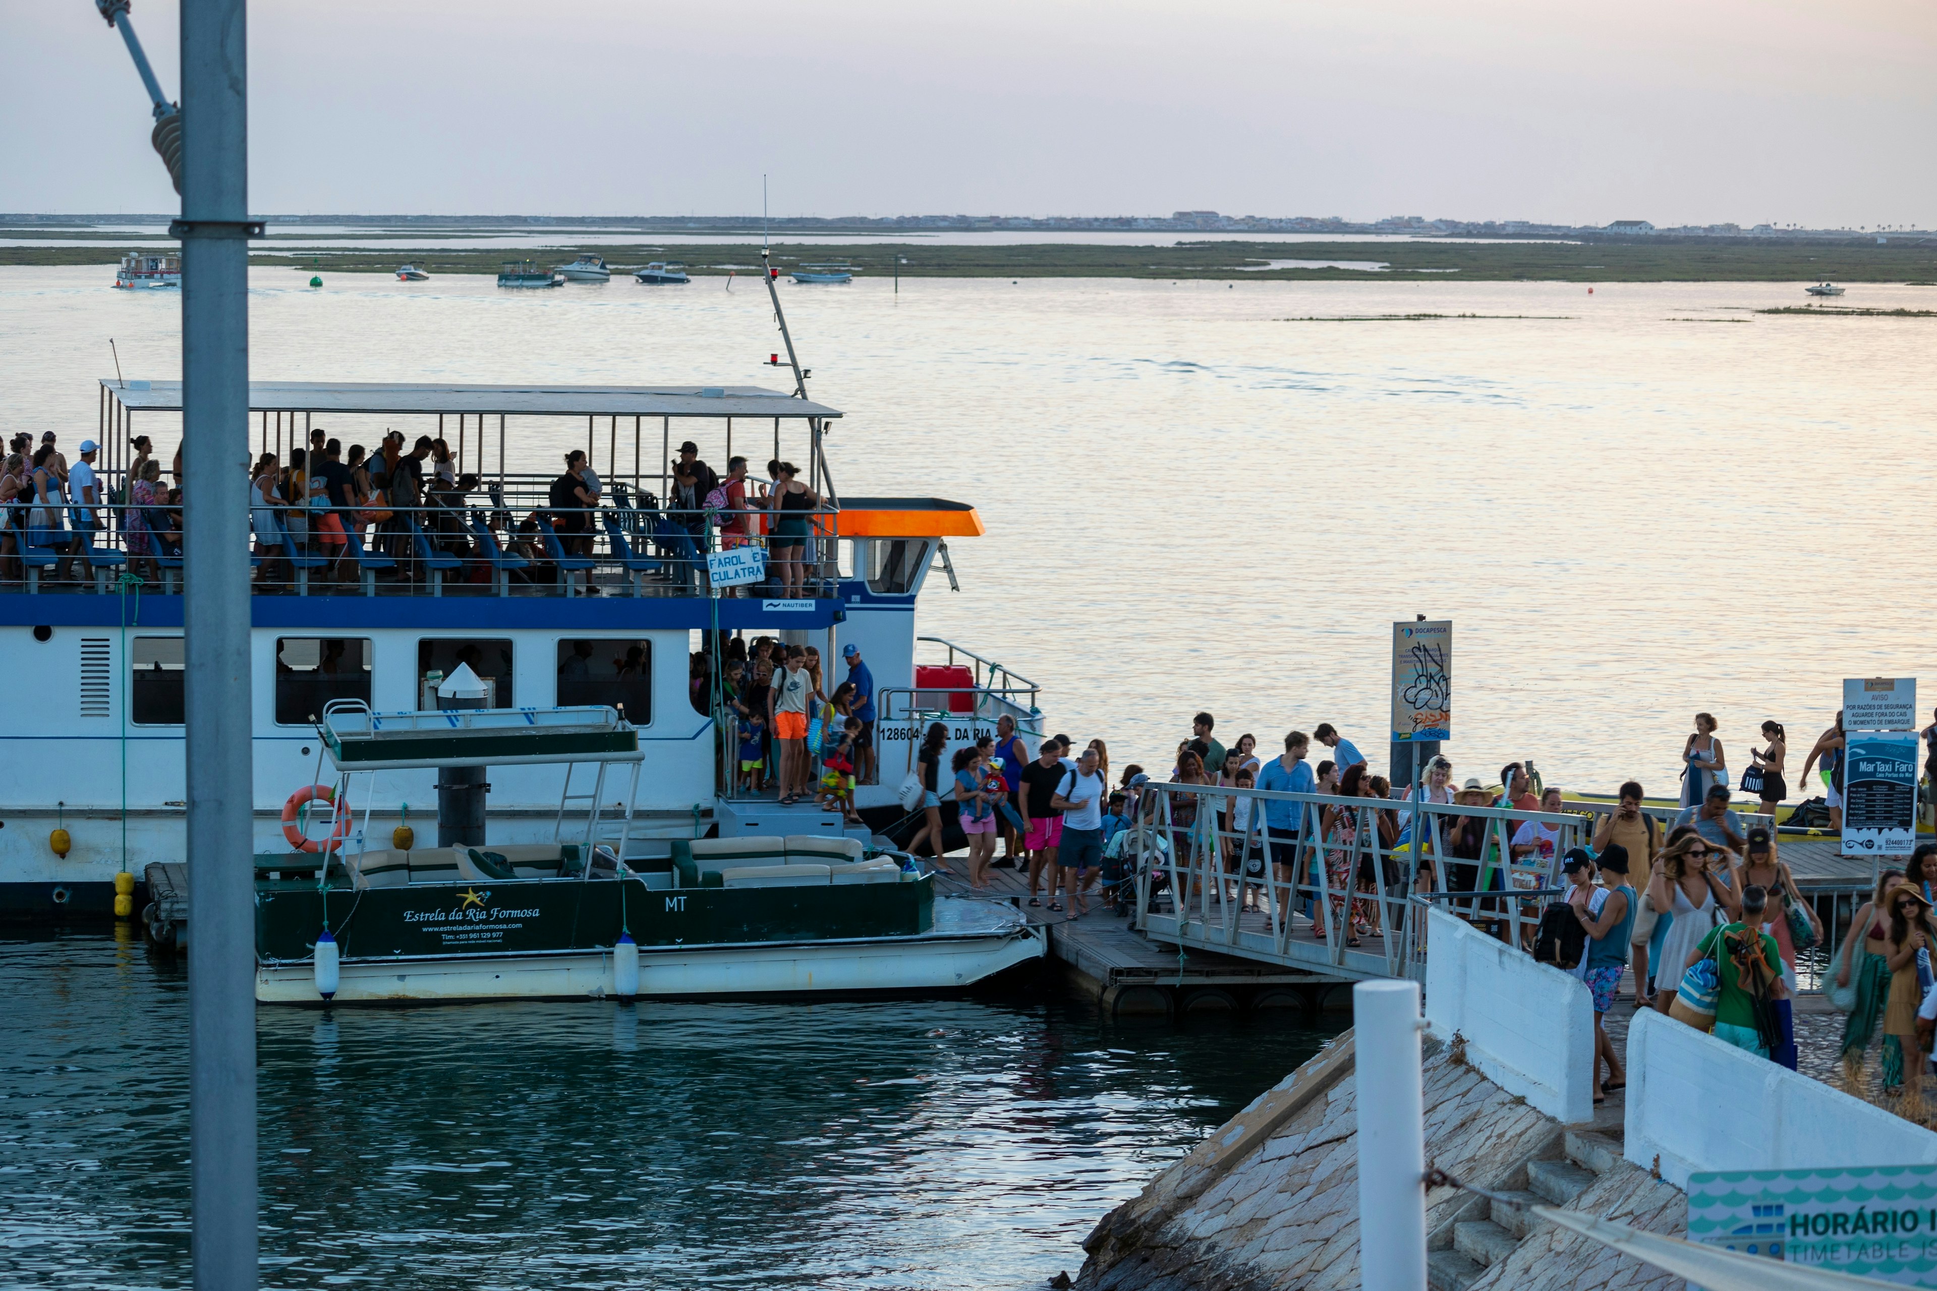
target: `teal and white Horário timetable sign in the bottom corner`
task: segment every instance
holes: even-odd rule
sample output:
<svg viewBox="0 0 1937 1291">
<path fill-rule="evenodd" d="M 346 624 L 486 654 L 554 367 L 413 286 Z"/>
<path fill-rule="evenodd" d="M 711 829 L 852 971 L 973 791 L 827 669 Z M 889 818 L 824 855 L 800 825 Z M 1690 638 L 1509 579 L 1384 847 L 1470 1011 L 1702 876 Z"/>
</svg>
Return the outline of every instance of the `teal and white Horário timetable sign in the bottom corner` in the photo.
<svg viewBox="0 0 1937 1291">
<path fill-rule="evenodd" d="M 1689 1241 L 1937 1287 L 1937 1165 L 1699 1171 Z"/>
</svg>

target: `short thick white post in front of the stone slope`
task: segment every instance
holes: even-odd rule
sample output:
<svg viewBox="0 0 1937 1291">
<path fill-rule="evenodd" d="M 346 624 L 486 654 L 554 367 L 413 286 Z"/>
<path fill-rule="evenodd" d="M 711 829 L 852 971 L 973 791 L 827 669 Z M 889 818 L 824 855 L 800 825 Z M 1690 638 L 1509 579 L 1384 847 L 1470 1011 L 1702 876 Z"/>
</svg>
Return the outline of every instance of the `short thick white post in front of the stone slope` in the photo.
<svg viewBox="0 0 1937 1291">
<path fill-rule="evenodd" d="M 1352 987 L 1358 1274 L 1364 1291 L 1426 1291 L 1426 1096 L 1420 983 Z"/>
</svg>

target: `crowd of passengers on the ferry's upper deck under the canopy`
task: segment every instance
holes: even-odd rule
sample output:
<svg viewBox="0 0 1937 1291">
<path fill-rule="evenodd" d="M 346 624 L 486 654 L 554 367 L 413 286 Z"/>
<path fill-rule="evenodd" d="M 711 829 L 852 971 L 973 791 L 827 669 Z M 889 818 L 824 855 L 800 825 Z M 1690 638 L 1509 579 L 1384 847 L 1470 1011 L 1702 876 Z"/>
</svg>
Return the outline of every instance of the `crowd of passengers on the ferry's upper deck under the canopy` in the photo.
<svg viewBox="0 0 1937 1291">
<path fill-rule="evenodd" d="M 428 548 L 463 561 L 453 573 L 459 583 L 490 583 L 492 561 L 484 550 L 482 526 L 504 554 L 523 567 L 507 567 L 513 583 L 552 585 L 564 571 L 554 555 L 593 557 L 599 534 L 597 513 L 606 505 L 604 486 L 585 451 L 566 455 L 566 470 L 552 480 L 546 505 L 515 519 L 494 492 L 490 507 L 473 507 L 480 492 L 477 474 L 459 474 L 449 443 L 420 435 L 405 447 L 401 432 L 389 432 L 378 449 L 353 443 L 349 453 L 327 432 L 314 430 L 308 447 L 294 447 L 283 463 L 261 453 L 250 470 L 250 526 L 256 536 L 258 590 L 281 590 L 292 579 L 291 550 L 323 557 L 312 579 L 356 585 L 356 548 L 395 561 L 382 579 L 422 581 L 426 571 L 411 519 Z M 143 579 L 159 579 L 161 559 L 182 555 L 182 453 L 176 449 L 163 482 L 163 465 L 153 457 L 147 435 L 130 441 L 134 457 L 124 490 L 105 490 L 95 472 L 99 445 L 83 439 L 70 465 L 56 447 L 54 432 L 14 435 L 0 472 L 0 577 L 21 579 L 21 542 L 58 554 L 54 581 L 76 579 L 76 565 L 93 550 L 107 528 L 108 511 L 120 507 L 128 563 Z M 680 445 L 670 461 L 666 509 L 641 492 L 630 497 L 616 486 L 616 501 L 626 511 L 633 534 L 657 548 L 662 563 L 651 577 L 666 583 L 705 581 L 701 552 L 709 538 L 719 548 L 763 544 L 767 579 L 759 586 L 728 588 L 726 594 L 798 596 L 817 581 L 808 559 L 808 517 L 827 505 L 798 478 L 792 463 L 767 463 L 767 482 L 750 488 L 748 463 L 734 457 L 724 476 L 699 459 L 697 445 Z M 707 528 L 713 526 L 713 534 Z M 556 538 L 556 542 L 552 542 Z M 81 579 L 87 571 L 81 571 Z M 597 594 L 597 586 L 587 586 Z"/>
</svg>

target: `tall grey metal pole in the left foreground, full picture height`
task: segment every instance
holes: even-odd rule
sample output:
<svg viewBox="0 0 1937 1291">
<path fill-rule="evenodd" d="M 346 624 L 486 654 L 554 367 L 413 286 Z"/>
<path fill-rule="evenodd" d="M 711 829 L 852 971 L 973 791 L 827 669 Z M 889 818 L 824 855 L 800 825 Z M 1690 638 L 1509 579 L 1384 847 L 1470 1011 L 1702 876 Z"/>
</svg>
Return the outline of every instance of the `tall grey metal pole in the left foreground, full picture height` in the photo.
<svg viewBox="0 0 1937 1291">
<path fill-rule="evenodd" d="M 248 586 L 248 33 L 182 0 L 182 637 L 196 1291 L 256 1287 L 256 865 Z"/>
</svg>

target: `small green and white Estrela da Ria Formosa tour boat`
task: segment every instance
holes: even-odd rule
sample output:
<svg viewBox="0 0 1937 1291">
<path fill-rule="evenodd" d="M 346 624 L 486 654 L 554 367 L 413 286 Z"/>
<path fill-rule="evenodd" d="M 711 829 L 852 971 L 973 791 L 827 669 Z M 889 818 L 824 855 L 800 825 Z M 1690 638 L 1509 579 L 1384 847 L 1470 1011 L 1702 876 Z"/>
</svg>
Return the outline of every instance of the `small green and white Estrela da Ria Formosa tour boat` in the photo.
<svg viewBox="0 0 1937 1291">
<path fill-rule="evenodd" d="M 637 728 L 610 706 L 480 710 L 484 697 L 459 666 L 438 710 L 329 705 L 335 784 L 312 788 L 314 828 L 289 830 L 306 850 L 256 857 L 260 1003 L 926 993 L 1044 952 L 1013 906 L 938 900 L 934 873 L 856 838 L 637 846 Z M 591 788 L 568 790 L 550 840 L 488 844 L 486 765 L 566 766 Z M 362 782 L 420 768 L 444 772 L 438 846 L 356 826 Z M 597 809 L 568 815 L 573 797 Z"/>
</svg>

